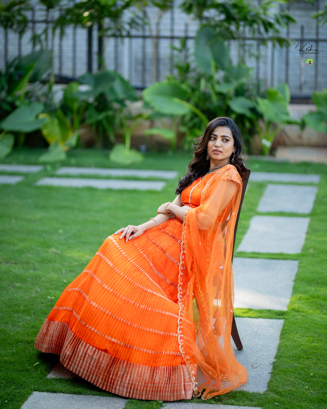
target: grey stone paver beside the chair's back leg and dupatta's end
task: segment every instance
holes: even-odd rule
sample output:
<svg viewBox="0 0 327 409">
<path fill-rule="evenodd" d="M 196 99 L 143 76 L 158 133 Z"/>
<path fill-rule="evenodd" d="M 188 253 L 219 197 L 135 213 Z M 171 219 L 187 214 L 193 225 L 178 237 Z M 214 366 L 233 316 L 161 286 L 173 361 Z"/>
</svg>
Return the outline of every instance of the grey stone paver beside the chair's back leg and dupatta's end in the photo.
<svg viewBox="0 0 327 409">
<path fill-rule="evenodd" d="M 248 381 L 235 391 L 263 393 L 270 379 L 284 320 L 237 317 L 235 320 L 244 348 L 238 351 L 234 347 L 235 357 L 248 371 Z"/>
</svg>

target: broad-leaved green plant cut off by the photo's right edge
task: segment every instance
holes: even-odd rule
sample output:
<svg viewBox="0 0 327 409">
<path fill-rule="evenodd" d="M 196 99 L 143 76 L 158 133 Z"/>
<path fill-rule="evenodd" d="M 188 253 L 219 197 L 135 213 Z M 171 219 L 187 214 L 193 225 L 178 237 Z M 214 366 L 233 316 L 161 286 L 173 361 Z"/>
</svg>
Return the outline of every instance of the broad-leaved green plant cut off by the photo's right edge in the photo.
<svg viewBox="0 0 327 409">
<path fill-rule="evenodd" d="M 302 127 L 307 125 L 310 128 L 327 133 L 327 89 L 316 91 L 311 96 L 316 105 L 316 112 L 308 112 L 302 118 Z"/>
</svg>

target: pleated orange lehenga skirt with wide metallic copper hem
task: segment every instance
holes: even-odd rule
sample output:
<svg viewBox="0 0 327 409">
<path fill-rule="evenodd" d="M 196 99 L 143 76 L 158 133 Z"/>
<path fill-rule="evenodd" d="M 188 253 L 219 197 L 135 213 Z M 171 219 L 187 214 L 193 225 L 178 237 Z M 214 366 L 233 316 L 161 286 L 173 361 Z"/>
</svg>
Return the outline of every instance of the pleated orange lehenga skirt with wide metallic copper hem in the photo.
<svg viewBox="0 0 327 409">
<path fill-rule="evenodd" d="M 35 347 L 118 395 L 192 398 L 177 334 L 181 235 L 172 219 L 128 243 L 109 236 L 64 290 Z"/>
</svg>

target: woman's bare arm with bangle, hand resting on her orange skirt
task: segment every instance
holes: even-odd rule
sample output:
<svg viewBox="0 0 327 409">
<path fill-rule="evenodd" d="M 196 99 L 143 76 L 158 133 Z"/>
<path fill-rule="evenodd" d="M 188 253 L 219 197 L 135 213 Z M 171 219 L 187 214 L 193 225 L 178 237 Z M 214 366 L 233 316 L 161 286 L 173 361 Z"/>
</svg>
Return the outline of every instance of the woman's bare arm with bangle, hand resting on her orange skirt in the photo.
<svg viewBox="0 0 327 409">
<path fill-rule="evenodd" d="M 176 198 L 174 199 L 172 204 L 174 206 L 178 207 L 178 208 L 183 206 L 183 203 L 181 201 L 181 195 L 176 196 Z M 165 205 L 166 205 L 166 203 L 161 205 L 159 207 L 159 209 L 162 206 L 163 206 L 163 209 L 164 209 Z M 158 209 L 158 211 L 159 211 L 159 209 Z M 167 213 L 169 213 L 169 212 L 167 211 Z M 184 217 L 184 214 L 183 214 L 183 217 Z M 160 213 L 160 214 L 158 212 L 157 216 L 155 216 L 154 218 L 151 218 L 148 222 L 145 222 L 145 223 L 143 223 L 141 225 L 138 225 L 138 226 L 128 225 L 127 227 L 123 227 L 122 229 L 117 230 L 114 234 L 116 235 L 116 234 L 121 233 L 121 236 L 119 237 L 120 239 L 125 237 L 125 241 L 132 240 L 132 238 L 136 238 L 138 236 L 141 236 L 141 234 L 143 234 L 144 231 L 146 231 L 148 229 L 151 229 L 152 227 L 159 226 L 162 223 L 164 223 L 167 220 L 172 219 L 172 218 L 175 218 L 175 215 L 171 214 L 170 216 L 168 216 L 166 213 L 164 213 L 164 211 L 162 213 Z M 155 220 L 153 220 L 153 219 L 155 219 Z"/>
</svg>

